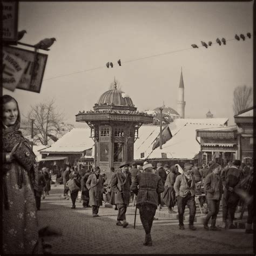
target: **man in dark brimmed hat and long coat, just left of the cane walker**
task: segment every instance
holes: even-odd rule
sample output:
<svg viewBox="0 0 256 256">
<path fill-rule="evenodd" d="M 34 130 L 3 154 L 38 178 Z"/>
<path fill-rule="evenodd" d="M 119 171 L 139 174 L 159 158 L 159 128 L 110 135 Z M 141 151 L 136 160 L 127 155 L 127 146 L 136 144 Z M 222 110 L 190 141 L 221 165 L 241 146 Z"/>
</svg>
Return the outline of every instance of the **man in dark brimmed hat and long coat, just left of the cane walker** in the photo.
<svg viewBox="0 0 256 256">
<path fill-rule="evenodd" d="M 126 221 L 125 213 L 131 197 L 131 173 L 128 163 L 122 163 L 119 168 L 120 170 L 113 174 L 110 186 L 114 192 L 114 203 L 118 208 L 117 226 L 127 227 L 129 223 Z"/>
</svg>

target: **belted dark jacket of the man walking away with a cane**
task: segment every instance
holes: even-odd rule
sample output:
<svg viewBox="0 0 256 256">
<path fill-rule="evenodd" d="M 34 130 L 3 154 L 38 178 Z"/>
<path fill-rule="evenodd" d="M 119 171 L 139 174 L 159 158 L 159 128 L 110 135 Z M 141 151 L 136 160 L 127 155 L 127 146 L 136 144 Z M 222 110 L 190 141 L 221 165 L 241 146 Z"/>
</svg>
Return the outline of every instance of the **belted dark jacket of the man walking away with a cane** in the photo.
<svg viewBox="0 0 256 256">
<path fill-rule="evenodd" d="M 139 173 L 133 180 L 131 191 L 138 194 L 137 205 L 149 203 L 157 206 L 158 195 L 164 192 L 164 184 L 157 174 L 145 171 Z"/>
</svg>

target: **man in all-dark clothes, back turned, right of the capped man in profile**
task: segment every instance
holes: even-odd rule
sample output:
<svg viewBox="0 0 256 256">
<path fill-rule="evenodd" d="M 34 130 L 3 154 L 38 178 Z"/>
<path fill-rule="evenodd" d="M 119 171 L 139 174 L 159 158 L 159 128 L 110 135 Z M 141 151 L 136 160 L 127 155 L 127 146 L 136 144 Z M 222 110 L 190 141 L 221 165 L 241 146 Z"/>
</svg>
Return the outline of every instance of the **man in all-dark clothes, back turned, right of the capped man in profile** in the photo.
<svg viewBox="0 0 256 256">
<path fill-rule="evenodd" d="M 233 165 L 226 171 L 225 180 L 223 180 L 224 193 L 222 200 L 223 208 L 223 223 L 219 226 L 225 229 L 236 228 L 233 224 L 235 208 L 238 205 L 240 197 L 234 192 L 239 186 L 239 181 L 242 178 L 242 172 L 239 169 L 240 160 L 234 160 Z"/>
</svg>

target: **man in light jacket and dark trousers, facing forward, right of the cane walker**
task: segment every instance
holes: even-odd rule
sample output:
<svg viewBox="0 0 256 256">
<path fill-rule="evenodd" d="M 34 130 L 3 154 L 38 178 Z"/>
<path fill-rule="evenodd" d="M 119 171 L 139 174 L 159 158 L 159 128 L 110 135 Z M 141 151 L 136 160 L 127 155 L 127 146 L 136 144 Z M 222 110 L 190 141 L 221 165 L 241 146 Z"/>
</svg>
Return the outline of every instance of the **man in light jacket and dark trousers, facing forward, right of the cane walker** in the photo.
<svg viewBox="0 0 256 256">
<path fill-rule="evenodd" d="M 189 228 L 190 230 L 197 229 L 194 226 L 194 217 L 196 215 L 196 201 L 194 200 L 194 197 L 198 180 L 194 177 L 191 169 L 192 165 L 186 163 L 184 165 L 184 172 L 177 176 L 173 186 L 177 197 L 180 230 L 184 230 L 183 216 L 186 206 L 190 210 Z"/>
</svg>

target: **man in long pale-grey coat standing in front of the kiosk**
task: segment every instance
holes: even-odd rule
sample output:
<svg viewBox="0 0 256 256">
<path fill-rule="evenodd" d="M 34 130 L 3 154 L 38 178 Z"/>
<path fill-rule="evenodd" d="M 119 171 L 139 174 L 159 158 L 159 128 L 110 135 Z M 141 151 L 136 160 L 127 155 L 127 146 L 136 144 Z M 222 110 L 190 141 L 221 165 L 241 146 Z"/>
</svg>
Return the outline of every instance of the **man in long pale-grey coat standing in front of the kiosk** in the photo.
<svg viewBox="0 0 256 256">
<path fill-rule="evenodd" d="M 99 206 L 102 205 L 102 190 L 104 179 L 100 175 L 99 166 L 95 168 L 95 171 L 88 177 L 86 181 L 86 187 L 89 190 L 90 205 L 92 206 L 93 217 L 99 217 Z"/>
</svg>

